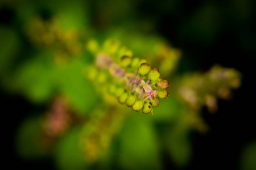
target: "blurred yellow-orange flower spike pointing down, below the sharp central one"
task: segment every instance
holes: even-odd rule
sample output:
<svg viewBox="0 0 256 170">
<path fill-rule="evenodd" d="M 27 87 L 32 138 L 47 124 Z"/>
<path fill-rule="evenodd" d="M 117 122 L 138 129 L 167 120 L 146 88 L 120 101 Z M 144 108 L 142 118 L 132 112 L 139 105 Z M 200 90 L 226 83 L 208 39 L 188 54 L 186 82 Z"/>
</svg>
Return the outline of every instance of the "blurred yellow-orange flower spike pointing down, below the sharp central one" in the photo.
<svg viewBox="0 0 256 170">
<path fill-rule="evenodd" d="M 84 159 L 89 164 L 97 162 L 108 150 L 127 116 L 126 112 L 119 114 L 117 108 L 98 107 L 92 113 L 80 133 Z"/>
</svg>

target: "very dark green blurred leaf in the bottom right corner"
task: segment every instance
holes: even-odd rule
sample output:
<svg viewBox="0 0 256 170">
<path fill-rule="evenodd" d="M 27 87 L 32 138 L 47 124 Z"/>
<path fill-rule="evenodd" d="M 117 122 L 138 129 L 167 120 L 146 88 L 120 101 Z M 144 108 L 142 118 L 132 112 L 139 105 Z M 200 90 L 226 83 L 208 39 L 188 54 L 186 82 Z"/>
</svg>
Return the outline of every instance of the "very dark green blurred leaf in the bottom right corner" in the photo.
<svg viewBox="0 0 256 170">
<path fill-rule="evenodd" d="M 256 142 L 247 145 L 241 154 L 240 169 L 241 170 L 254 170 L 256 169 Z"/>
</svg>

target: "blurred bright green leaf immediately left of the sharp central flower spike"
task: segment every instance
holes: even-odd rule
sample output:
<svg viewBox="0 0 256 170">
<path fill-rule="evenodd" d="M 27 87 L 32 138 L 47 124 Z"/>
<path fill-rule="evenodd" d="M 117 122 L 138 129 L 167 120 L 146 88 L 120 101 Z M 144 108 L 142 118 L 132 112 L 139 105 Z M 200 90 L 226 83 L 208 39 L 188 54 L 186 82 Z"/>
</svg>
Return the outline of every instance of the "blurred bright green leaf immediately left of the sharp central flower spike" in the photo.
<svg viewBox="0 0 256 170">
<path fill-rule="evenodd" d="M 59 68 L 57 79 L 61 94 L 67 97 L 72 107 L 79 113 L 88 113 L 97 104 L 97 93 L 93 84 L 82 74 L 83 63 L 79 59 Z"/>
</svg>

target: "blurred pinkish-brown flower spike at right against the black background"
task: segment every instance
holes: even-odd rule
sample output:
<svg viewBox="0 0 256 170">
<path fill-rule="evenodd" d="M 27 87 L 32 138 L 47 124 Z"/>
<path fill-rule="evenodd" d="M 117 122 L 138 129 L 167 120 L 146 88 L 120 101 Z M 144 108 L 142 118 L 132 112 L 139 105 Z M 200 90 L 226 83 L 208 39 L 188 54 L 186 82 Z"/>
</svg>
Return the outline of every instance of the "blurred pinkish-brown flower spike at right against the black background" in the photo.
<svg viewBox="0 0 256 170">
<path fill-rule="evenodd" d="M 231 99 L 231 90 L 240 87 L 241 74 L 216 65 L 205 74 L 188 75 L 179 82 L 178 95 L 190 108 L 200 109 L 206 105 L 209 112 L 214 113 L 218 109 L 217 97 Z"/>
</svg>

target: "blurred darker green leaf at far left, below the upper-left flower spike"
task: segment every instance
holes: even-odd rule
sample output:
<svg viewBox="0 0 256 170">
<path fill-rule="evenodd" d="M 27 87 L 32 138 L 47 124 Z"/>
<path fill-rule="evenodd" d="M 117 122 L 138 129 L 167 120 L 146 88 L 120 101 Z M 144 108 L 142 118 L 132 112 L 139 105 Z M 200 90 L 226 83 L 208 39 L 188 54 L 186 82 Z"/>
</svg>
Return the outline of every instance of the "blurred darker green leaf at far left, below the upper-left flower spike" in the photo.
<svg viewBox="0 0 256 170">
<path fill-rule="evenodd" d="M 34 57 L 18 69 L 14 86 L 32 101 L 42 103 L 54 92 L 56 73 L 51 54 L 38 53 Z"/>
</svg>

